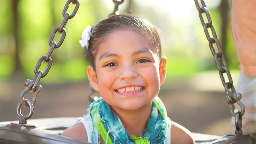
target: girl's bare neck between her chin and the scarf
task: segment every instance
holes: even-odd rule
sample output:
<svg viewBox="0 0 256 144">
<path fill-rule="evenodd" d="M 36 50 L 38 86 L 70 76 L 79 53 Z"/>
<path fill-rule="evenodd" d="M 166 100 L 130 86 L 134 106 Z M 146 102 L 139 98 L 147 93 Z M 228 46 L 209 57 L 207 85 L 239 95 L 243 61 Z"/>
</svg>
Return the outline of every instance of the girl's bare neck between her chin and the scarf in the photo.
<svg viewBox="0 0 256 144">
<path fill-rule="evenodd" d="M 124 128 L 130 135 L 136 137 L 147 128 L 148 120 L 151 116 L 152 102 L 138 110 L 120 110 L 112 107 L 119 116 Z"/>
</svg>

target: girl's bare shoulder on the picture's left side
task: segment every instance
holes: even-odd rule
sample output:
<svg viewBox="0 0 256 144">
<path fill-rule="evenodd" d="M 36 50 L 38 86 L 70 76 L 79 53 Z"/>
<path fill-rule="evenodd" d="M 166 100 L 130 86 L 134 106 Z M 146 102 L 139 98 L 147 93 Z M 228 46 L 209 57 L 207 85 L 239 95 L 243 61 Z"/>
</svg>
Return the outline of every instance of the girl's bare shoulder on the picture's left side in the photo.
<svg viewBox="0 0 256 144">
<path fill-rule="evenodd" d="M 82 122 L 67 128 L 61 135 L 88 142 L 87 132 Z"/>
</svg>

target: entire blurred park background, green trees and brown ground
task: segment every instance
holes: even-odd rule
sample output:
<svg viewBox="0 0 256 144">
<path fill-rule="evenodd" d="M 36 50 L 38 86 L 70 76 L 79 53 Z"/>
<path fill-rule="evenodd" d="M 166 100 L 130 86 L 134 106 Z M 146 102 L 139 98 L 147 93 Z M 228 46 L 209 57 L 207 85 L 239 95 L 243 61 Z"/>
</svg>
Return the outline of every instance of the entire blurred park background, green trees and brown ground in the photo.
<svg viewBox="0 0 256 144">
<path fill-rule="evenodd" d="M 25 88 L 23 82 L 34 79 L 38 59 L 50 49 L 48 40 L 62 22 L 66 0 L 0 2 L 0 121 L 12 121 L 18 120 L 16 106 Z M 236 86 L 239 62 L 230 28 L 230 1 L 205 2 Z M 68 12 L 72 13 L 74 7 L 71 3 Z M 65 41 L 51 56 L 50 72 L 39 82 L 43 88 L 32 118 L 79 117 L 87 113 L 90 88 L 86 67 L 89 63 L 78 41 L 86 26 L 105 19 L 113 9 L 112 0 L 80 0 L 77 14 L 65 27 Z M 145 17 L 161 30 L 162 55 L 168 62 L 167 78 L 159 97 L 170 119 L 192 132 L 231 133 L 224 87 L 194 1 L 125 0 L 119 12 Z M 61 34 L 56 33 L 54 41 L 60 37 Z M 46 66 L 43 62 L 40 70 Z M 27 93 L 25 98 L 31 100 L 32 93 Z M 22 108 L 24 115 L 27 111 Z"/>
</svg>

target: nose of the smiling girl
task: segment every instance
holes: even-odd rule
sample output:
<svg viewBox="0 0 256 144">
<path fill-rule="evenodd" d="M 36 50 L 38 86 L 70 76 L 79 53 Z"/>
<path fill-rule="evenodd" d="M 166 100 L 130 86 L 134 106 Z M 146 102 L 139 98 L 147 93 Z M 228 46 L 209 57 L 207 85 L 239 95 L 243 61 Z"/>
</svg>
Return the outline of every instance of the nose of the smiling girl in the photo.
<svg viewBox="0 0 256 144">
<path fill-rule="evenodd" d="M 134 79 L 138 77 L 138 72 L 135 66 L 132 64 L 126 64 L 121 69 L 121 73 L 119 75 L 120 79 Z"/>
</svg>

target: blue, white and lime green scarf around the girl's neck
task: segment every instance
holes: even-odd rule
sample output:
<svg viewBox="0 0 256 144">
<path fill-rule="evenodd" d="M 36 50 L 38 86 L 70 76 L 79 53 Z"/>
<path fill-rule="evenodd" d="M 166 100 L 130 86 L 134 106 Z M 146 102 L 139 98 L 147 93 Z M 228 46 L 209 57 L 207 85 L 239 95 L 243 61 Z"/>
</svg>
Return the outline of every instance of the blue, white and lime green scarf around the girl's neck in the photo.
<svg viewBox="0 0 256 144">
<path fill-rule="evenodd" d="M 128 134 L 117 114 L 102 98 L 90 104 L 87 111 L 93 120 L 92 143 L 100 144 L 100 135 L 106 144 L 163 144 L 166 140 L 166 119 L 169 118 L 158 97 L 153 100 L 148 126 L 139 137 Z"/>
</svg>

